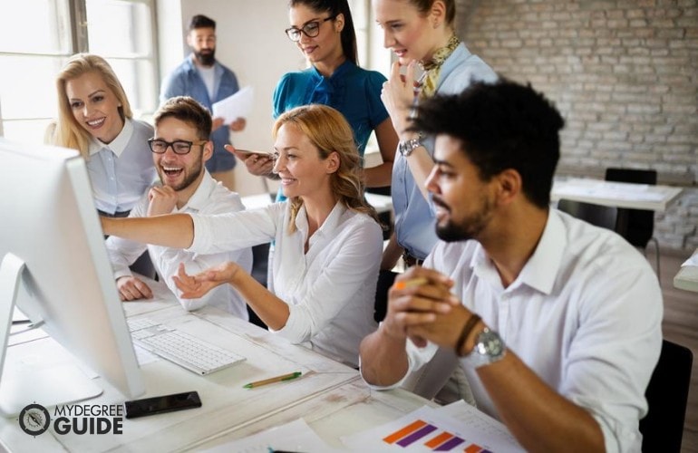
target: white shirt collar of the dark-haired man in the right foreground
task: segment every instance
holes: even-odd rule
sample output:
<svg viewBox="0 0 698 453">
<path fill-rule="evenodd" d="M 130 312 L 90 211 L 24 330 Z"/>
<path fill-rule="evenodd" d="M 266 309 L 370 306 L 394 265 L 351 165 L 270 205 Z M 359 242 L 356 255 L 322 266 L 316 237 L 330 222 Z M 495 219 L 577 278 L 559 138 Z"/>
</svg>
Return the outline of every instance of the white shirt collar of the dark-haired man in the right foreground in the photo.
<svg viewBox="0 0 698 453">
<path fill-rule="evenodd" d="M 566 237 L 565 226 L 560 220 L 557 210 L 548 209 L 548 220 L 543 228 L 543 234 L 538 240 L 536 250 L 528 258 L 519 276 L 509 285 L 507 290 L 511 291 L 521 284 L 526 284 L 549 295 L 552 292 L 557 272 L 562 263 L 562 256 L 567 247 Z M 496 275 L 497 281 L 500 283 L 499 273 L 480 243 L 470 259 L 470 269 L 476 275 L 488 279 L 495 278 Z"/>
</svg>

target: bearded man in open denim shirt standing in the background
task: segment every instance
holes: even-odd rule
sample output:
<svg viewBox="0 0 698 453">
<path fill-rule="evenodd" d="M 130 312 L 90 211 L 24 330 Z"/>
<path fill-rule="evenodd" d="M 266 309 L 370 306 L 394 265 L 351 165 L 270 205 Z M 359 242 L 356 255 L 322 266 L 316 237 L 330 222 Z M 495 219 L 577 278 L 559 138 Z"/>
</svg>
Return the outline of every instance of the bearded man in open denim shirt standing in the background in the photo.
<svg viewBox="0 0 698 453">
<path fill-rule="evenodd" d="M 174 96 L 191 96 L 213 111 L 214 102 L 221 101 L 239 90 L 238 78 L 227 66 L 216 60 L 216 22 L 205 15 L 191 18 L 187 44 L 189 56 L 162 82 L 160 104 Z M 213 157 L 206 168 L 213 178 L 230 190 L 235 190 L 235 156 L 224 146 L 230 144 L 230 131 L 245 129 L 246 121 L 238 118 L 228 126 L 222 118 L 213 119 Z"/>
</svg>

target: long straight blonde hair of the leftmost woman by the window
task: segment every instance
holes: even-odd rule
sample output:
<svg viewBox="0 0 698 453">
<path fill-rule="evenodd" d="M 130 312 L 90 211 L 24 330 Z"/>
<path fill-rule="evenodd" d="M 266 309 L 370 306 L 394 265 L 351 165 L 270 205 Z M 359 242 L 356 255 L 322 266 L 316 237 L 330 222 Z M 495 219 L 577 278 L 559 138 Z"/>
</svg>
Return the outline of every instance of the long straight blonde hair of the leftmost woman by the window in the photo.
<svg viewBox="0 0 698 453">
<path fill-rule="evenodd" d="M 68 95 L 65 92 L 65 84 L 87 72 L 96 72 L 102 76 L 103 81 L 111 89 L 111 92 L 114 93 L 119 103 L 121 103 L 121 107 L 119 107 L 121 120 L 133 118 L 131 103 L 129 103 L 126 92 L 123 91 L 121 82 L 119 82 L 109 63 L 98 55 L 90 53 L 74 54 L 56 76 L 58 120 L 56 120 L 53 134 L 51 134 L 52 137 L 47 137 L 47 139 L 53 140 L 53 145 L 77 149 L 85 159 L 89 158 L 88 146 L 91 135 L 75 120 L 70 101 L 68 101 Z"/>
</svg>

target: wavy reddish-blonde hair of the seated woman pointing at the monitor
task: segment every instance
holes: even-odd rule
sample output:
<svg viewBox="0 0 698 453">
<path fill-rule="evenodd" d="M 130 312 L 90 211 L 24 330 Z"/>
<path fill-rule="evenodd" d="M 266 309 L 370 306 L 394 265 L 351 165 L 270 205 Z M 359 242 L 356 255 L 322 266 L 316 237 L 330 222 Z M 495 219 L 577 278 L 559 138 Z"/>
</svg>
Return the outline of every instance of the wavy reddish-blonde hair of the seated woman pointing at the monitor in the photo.
<svg viewBox="0 0 698 453">
<path fill-rule="evenodd" d="M 354 142 L 354 132 L 339 111 L 322 104 L 296 107 L 284 112 L 274 123 L 272 136 L 276 140 L 278 130 L 284 124 L 293 124 L 315 145 L 320 159 L 327 159 L 333 152 L 339 157 L 339 166 L 330 177 L 332 193 L 344 207 L 372 217 L 377 223 L 375 209 L 364 198 L 364 170 Z M 289 198 L 291 219 L 289 233 L 296 231 L 296 215 L 303 207 L 300 197 Z"/>
</svg>

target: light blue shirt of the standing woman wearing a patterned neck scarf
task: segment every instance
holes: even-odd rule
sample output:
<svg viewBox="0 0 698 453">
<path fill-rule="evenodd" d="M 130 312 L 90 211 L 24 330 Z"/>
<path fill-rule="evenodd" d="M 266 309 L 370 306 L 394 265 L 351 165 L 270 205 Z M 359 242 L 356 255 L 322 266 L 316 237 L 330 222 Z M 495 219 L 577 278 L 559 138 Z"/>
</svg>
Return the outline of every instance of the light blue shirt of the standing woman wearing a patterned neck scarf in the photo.
<svg viewBox="0 0 698 453">
<path fill-rule="evenodd" d="M 465 90 L 473 80 L 494 82 L 497 74 L 480 57 L 470 53 L 465 44 L 460 43 L 441 66 L 436 92 L 456 94 Z M 434 137 L 427 137 L 423 144 L 433 159 Z M 395 153 L 393 162 L 391 194 L 398 244 L 410 255 L 418 259 L 426 258 L 438 240 L 434 209 L 431 197 L 429 200 L 424 198 L 412 177 L 407 159 L 400 153 Z"/>
</svg>

